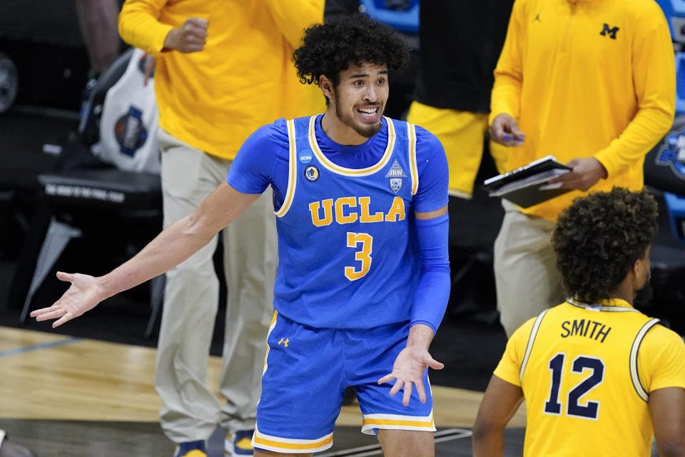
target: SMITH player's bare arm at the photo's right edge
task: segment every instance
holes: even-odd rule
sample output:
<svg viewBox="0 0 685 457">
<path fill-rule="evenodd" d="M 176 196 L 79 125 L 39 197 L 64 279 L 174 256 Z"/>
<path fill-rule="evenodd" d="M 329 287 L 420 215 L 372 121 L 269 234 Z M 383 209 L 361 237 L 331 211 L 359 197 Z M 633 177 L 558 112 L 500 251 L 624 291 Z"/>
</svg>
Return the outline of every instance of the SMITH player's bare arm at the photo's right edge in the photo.
<svg viewBox="0 0 685 457">
<path fill-rule="evenodd" d="M 685 389 L 659 388 L 649 393 L 649 414 L 654 424 L 659 456 L 685 456 Z"/>
</svg>

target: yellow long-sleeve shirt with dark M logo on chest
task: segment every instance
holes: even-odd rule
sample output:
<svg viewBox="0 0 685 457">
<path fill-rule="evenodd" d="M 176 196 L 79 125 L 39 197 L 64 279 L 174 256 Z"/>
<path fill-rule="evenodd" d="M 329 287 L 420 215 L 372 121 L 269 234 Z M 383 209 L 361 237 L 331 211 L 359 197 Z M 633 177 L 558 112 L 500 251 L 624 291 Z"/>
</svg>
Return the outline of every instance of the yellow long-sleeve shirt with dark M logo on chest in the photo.
<svg viewBox="0 0 685 457">
<path fill-rule="evenodd" d="M 654 0 L 517 0 L 494 75 L 490 121 L 510 114 L 527 134 L 508 169 L 594 157 L 608 176 L 590 191 L 641 189 L 644 156 L 675 112 L 673 46 Z M 582 195 L 522 211 L 554 220 Z"/>
</svg>

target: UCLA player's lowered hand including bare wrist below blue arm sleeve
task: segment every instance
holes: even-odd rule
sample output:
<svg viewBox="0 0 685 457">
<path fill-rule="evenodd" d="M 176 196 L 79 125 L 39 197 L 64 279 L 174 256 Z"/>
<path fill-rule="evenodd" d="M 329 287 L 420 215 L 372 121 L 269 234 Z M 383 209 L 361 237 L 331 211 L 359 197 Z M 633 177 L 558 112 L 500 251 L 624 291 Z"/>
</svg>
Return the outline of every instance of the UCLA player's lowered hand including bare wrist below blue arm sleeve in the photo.
<svg viewBox="0 0 685 457">
<path fill-rule="evenodd" d="M 423 385 L 423 373 L 426 367 L 436 370 L 442 369 L 442 363 L 435 361 L 428 352 L 428 346 L 433 339 L 433 329 L 422 323 L 412 326 L 407 338 L 407 347 L 402 349 L 395 363 L 392 365 L 392 372 L 378 380 L 379 384 L 389 383 L 395 379 L 395 385 L 390 389 L 390 396 L 394 396 L 404 387 L 402 394 L 402 404 L 407 406 L 412 396 L 412 386 L 416 386 L 421 403 L 426 402 L 426 389 Z"/>
</svg>

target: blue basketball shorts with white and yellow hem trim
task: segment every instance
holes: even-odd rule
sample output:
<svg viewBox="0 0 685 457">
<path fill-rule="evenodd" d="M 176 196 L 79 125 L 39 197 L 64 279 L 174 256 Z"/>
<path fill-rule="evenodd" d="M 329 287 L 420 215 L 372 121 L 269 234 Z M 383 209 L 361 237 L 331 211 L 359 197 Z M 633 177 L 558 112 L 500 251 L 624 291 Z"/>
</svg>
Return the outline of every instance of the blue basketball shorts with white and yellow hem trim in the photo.
<svg viewBox="0 0 685 457">
<path fill-rule="evenodd" d="M 275 313 L 268 336 L 253 446 L 282 453 L 324 451 L 333 446 L 333 427 L 345 388 L 357 393 L 362 433 L 379 428 L 435 431 L 427 370 L 426 403 L 416 388 L 408 406 L 395 383 L 378 385 L 407 345 L 409 323 L 365 329 L 313 328 Z"/>
</svg>

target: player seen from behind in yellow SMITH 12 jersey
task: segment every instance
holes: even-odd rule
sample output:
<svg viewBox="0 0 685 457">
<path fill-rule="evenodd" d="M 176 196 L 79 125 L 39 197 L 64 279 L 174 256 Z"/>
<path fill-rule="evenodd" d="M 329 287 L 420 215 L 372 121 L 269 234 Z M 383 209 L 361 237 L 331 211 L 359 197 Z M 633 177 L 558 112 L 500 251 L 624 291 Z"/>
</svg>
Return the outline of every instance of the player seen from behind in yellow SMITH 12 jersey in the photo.
<svg viewBox="0 0 685 457">
<path fill-rule="evenodd" d="M 514 331 L 473 428 L 476 457 L 504 454 L 525 398 L 524 456 L 685 456 L 685 344 L 636 310 L 649 290 L 656 201 L 614 187 L 575 199 L 552 233 L 569 298 Z"/>
</svg>

